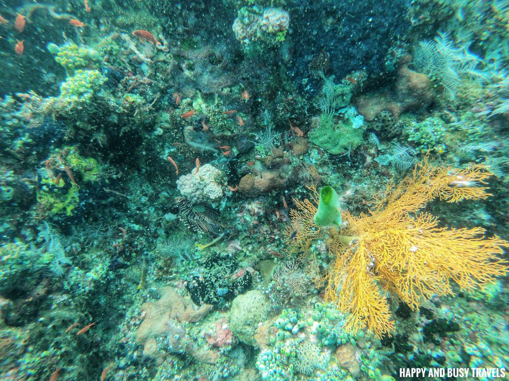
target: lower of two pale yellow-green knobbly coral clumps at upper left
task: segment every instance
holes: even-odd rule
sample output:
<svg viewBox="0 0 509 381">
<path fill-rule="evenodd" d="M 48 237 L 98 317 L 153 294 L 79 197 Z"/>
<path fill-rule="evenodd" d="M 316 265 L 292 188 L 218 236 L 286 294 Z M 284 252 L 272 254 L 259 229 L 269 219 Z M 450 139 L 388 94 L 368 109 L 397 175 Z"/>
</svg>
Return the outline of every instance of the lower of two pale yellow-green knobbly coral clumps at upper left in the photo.
<svg viewBox="0 0 509 381">
<path fill-rule="evenodd" d="M 60 86 L 60 96 L 57 98 L 59 108 L 71 111 L 74 107 L 90 102 L 106 80 L 97 70 L 76 70 L 74 75 L 68 77 Z"/>
</svg>

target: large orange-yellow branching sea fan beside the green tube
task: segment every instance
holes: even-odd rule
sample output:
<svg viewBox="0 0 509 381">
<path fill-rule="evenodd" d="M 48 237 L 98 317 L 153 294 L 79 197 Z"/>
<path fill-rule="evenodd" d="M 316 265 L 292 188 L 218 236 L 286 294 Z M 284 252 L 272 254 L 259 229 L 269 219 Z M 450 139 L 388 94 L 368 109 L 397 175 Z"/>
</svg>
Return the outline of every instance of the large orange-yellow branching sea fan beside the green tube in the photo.
<svg viewBox="0 0 509 381">
<path fill-rule="evenodd" d="M 347 229 L 328 229 L 329 250 L 335 256 L 329 269 L 325 298 L 349 312 L 345 327 L 357 331 L 365 326 L 377 336 L 390 334 L 386 292 L 417 308 L 423 298 L 453 294 L 451 280 L 462 291 L 483 287 L 507 272 L 498 258 L 509 242 L 497 236 L 484 238 L 482 228 L 438 227 L 438 218 L 420 209 L 427 202 L 486 199 L 486 179 L 491 173 L 482 165 L 463 170 L 433 167 L 428 161 L 416 166 L 395 190 L 379 201 L 369 214 L 355 217 L 342 212 Z M 314 201 L 296 200 L 292 226 L 299 240 L 324 237 L 326 228 L 313 230 Z"/>
</svg>

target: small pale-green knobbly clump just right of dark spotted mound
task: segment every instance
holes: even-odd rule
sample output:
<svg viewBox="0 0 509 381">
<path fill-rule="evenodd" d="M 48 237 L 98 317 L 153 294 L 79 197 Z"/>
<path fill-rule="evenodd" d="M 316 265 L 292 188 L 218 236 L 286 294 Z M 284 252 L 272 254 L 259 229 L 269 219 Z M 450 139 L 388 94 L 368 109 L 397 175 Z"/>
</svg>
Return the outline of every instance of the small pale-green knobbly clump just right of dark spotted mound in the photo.
<svg viewBox="0 0 509 381">
<path fill-rule="evenodd" d="M 414 142 L 421 153 L 444 153 L 447 147 L 444 142 L 445 132 L 443 122 L 434 117 L 407 124 L 408 141 Z"/>
</svg>

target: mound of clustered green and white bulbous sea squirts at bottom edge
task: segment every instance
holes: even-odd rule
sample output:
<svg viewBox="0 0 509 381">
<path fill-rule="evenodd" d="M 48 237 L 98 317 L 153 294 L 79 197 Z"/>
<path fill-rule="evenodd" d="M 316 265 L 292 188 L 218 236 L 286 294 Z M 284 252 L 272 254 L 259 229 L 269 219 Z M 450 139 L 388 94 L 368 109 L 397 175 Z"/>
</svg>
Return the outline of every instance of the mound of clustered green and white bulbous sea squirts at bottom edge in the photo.
<svg viewBox="0 0 509 381">
<path fill-rule="evenodd" d="M 331 304 L 316 303 L 314 308 L 285 309 L 273 322 L 269 347 L 258 356 L 256 366 L 264 381 L 339 381 L 390 379 L 379 369 L 383 351 L 363 331 L 353 336 L 343 330 L 345 315 Z M 361 339 L 364 349 L 357 347 Z M 351 347 L 342 366 L 334 356 L 337 347 Z M 353 373 L 353 374 L 352 374 Z"/>
</svg>

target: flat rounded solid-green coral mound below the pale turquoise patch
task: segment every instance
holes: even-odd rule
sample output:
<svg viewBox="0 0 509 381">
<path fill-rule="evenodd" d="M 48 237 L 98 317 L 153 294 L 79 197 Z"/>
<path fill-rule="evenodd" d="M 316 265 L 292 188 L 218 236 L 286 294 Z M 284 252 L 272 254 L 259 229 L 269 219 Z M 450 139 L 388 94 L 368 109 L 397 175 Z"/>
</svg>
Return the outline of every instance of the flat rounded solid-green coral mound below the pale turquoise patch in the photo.
<svg viewBox="0 0 509 381">
<path fill-rule="evenodd" d="M 334 122 L 331 114 L 320 116 L 320 125 L 309 132 L 309 141 L 332 154 L 350 152 L 362 144 L 363 130 L 352 120 L 344 118 Z"/>
</svg>

